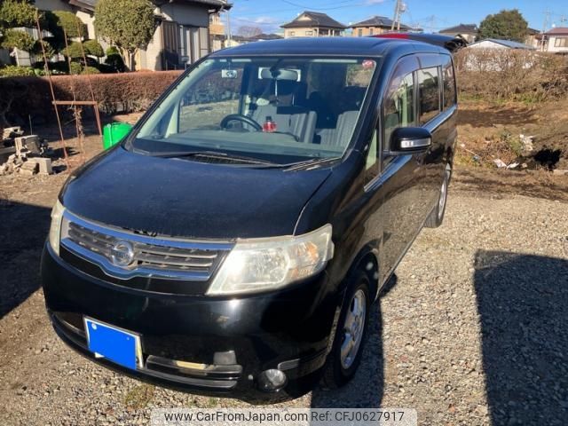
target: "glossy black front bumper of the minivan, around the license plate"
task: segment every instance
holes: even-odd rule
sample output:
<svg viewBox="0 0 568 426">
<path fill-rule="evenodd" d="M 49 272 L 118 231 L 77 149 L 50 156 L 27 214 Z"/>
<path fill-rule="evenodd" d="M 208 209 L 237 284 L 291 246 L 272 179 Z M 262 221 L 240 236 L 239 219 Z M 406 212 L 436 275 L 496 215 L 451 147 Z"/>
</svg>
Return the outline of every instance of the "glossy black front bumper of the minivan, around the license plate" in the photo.
<svg viewBox="0 0 568 426">
<path fill-rule="evenodd" d="M 53 327 L 83 355 L 147 382 L 242 399 L 270 397 L 258 390 L 257 380 L 271 368 L 288 377 L 280 395 L 303 393 L 325 363 L 341 303 L 326 272 L 257 296 L 156 294 L 81 272 L 48 243 L 42 279 Z M 83 316 L 140 335 L 143 367 L 130 370 L 96 359 L 88 350 Z"/>
</svg>

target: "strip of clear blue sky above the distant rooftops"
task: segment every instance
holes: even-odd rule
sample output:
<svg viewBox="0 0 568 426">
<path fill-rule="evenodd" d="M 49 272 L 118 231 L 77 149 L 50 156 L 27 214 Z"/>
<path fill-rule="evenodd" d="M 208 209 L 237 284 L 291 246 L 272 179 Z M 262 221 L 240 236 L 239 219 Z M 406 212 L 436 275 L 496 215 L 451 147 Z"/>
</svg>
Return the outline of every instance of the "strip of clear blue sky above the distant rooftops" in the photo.
<svg viewBox="0 0 568 426">
<path fill-rule="evenodd" d="M 417 25 L 426 32 L 453 27 L 460 23 L 479 24 L 488 14 L 502 9 L 518 9 L 529 27 L 547 30 L 568 27 L 567 0 L 403 0 L 406 12 L 402 22 Z M 261 28 L 265 33 L 280 31 L 280 24 L 294 20 L 304 11 L 323 12 L 344 25 L 374 15 L 392 18 L 396 0 L 230 0 L 231 32 L 243 26 Z M 549 12 L 547 14 L 547 12 Z M 226 20 L 226 13 L 224 19 Z M 226 25 L 226 21 L 225 21 Z"/>
</svg>

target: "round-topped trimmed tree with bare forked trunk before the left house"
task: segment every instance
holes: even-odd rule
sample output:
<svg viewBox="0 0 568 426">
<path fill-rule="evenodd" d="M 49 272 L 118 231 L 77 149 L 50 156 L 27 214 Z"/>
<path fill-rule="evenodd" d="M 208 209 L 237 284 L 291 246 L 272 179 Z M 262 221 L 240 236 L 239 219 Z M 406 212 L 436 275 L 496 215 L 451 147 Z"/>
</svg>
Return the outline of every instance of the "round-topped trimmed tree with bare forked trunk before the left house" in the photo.
<svg viewBox="0 0 568 426">
<path fill-rule="evenodd" d="M 134 54 L 154 36 L 154 5 L 148 0 L 99 0 L 95 28 L 121 51 L 132 69 Z"/>
</svg>

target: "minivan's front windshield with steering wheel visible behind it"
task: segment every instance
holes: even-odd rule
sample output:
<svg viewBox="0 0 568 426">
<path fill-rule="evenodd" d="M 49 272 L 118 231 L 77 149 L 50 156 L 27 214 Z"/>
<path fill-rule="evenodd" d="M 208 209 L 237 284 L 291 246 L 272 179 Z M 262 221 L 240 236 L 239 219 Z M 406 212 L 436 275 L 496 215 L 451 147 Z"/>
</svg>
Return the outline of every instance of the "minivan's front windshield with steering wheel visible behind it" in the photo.
<svg viewBox="0 0 568 426">
<path fill-rule="evenodd" d="M 341 157 L 375 68 L 365 58 L 206 59 L 146 119 L 132 147 L 277 164 Z"/>
</svg>

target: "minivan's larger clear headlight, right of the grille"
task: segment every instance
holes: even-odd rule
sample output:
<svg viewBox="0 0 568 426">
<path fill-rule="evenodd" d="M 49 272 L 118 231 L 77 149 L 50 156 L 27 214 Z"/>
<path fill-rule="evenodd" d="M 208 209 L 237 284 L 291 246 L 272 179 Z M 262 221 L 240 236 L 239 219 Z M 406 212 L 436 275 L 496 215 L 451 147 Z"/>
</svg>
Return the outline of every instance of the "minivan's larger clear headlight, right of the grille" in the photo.
<svg viewBox="0 0 568 426">
<path fill-rule="evenodd" d="M 233 295 L 281 288 L 320 272 L 333 255 L 331 225 L 297 237 L 237 241 L 207 294 Z"/>
</svg>

